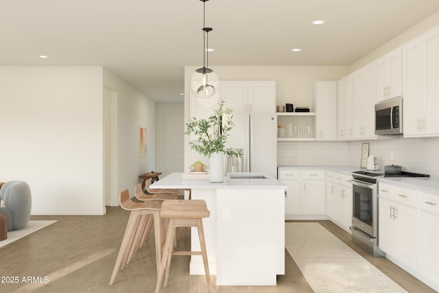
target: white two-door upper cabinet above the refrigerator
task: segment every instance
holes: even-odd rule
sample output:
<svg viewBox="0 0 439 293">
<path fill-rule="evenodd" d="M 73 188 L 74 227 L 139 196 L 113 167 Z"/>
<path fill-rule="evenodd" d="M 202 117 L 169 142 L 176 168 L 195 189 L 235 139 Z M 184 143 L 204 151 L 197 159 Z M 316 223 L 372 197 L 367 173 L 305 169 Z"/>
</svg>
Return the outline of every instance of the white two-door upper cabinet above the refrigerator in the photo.
<svg viewBox="0 0 439 293">
<path fill-rule="evenodd" d="M 235 114 L 276 113 L 276 82 L 224 81 L 220 95 Z"/>
</svg>

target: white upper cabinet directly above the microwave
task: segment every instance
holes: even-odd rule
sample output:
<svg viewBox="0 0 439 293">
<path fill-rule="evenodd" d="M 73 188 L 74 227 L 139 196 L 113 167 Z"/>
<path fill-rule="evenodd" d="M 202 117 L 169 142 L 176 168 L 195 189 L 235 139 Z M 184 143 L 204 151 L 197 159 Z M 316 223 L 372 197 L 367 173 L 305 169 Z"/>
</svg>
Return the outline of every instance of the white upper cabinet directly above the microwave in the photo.
<svg viewBox="0 0 439 293">
<path fill-rule="evenodd" d="M 403 94 L 402 65 L 401 47 L 377 59 L 377 102 Z"/>
</svg>

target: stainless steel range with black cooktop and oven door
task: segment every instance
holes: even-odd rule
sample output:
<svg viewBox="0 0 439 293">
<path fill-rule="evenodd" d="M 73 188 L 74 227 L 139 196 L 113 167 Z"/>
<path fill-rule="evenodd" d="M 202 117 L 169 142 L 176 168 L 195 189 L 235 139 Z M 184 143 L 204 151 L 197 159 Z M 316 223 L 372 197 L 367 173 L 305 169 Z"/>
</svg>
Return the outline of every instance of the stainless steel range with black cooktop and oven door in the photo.
<svg viewBox="0 0 439 293">
<path fill-rule="evenodd" d="M 383 171 L 357 171 L 353 179 L 352 242 L 374 257 L 384 257 L 378 239 L 378 193 L 377 178 L 380 177 L 428 177 L 426 174 L 401 172 L 384 174 Z"/>
</svg>

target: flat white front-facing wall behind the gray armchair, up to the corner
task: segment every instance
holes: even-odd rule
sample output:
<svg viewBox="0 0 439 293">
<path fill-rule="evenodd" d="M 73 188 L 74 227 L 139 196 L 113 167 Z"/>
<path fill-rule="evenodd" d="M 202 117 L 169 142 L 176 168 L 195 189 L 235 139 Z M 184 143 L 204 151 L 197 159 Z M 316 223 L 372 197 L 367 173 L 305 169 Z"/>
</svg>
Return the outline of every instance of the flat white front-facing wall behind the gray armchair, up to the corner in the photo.
<svg viewBox="0 0 439 293">
<path fill-rule="evenodd" d="M 32 214 L 103 214 L 102 67 L 0 67 L 0 179 Z"/>
</svg>

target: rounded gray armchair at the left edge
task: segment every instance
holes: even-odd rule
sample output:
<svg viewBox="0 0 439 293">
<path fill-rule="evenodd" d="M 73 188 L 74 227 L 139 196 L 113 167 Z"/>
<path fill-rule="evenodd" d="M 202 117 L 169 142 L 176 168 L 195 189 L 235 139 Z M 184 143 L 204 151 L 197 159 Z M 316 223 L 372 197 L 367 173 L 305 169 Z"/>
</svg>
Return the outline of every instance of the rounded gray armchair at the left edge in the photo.
<svg viewBox="0 0 439 293">
<path fill-rule="evenodd" d="M 32 208 L 30 188 L 24 181 L 8 181 L 0 189 L 0 213 L 8 218 L 8 231 L 24 228 Z"/>
</svg>

